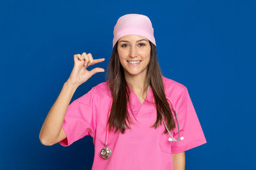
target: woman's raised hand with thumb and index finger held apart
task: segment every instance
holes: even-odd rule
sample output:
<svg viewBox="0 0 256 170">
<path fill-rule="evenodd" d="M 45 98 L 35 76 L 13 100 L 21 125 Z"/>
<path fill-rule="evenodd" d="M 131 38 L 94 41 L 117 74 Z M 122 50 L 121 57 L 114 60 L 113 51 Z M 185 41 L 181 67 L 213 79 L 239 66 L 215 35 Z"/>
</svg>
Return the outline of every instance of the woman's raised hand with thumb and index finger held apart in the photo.
<svg viewBox="0 0 256 170">
<path fill-rule="evenodd" d="M 85 52 L 81 54 L 74 55 L 74 67 L 68 78 L 68 83 L 72 85 L 79 86 L 87 81 L 93 74 L 104 72 L 103 68 L 96 67 L 91 71 L 88 71 L 86 68 L 92 66 L 93 64 L 104 61 L 105 59 L 93 59 L 92 54 Z"/>
</svg>

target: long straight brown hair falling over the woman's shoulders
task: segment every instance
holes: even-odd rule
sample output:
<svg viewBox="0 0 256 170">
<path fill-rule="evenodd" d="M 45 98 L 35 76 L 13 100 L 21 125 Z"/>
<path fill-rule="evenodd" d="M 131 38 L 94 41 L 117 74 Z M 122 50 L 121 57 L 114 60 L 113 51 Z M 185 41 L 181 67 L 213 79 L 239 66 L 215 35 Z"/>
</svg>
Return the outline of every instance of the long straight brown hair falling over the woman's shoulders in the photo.
<svg viewBox="0 0 256 170">
<path fill-rule="evenodd" d="M 155 129 L 162 124 L 162 116 L 164 116 L 164 122 L 168 127 L 169 131 L 175 128 L 175 122 L 173 119 L 172 111 L 170 105 L 167 102 L 164 93 L 164 84 L 162 79 L 161 69 L 159 67 L 159 62 L 157 60 L 156 45 L 151 41 L 150 43 L 150 61 L 147 66 L 147 76 L 146 76 L 146 86 L 144 92 L 148 89 L 148 86 L 152 88 L 154 94 L 155 108 L 157 110 L 157 118 L 154 125 Z M 127 110 L 127 103 L 130 104 L 127 81 L 124 76 L 124 67 L 120 64 L 117 51 L 118 41 L 113 47 L 113 52 L 111 58 L 109 59 L 109 64 L 107 68 L 107 85 L 108 89 L 111 91 L 113 102 L 111 106 L 111 111 L 109 114 L 108 124 L 109 130 L 115 129 L 115 132 L 120 130 L 122 134 L 125 132 L 125 127 L 131 129 L 127 122 L 131 124 L 131 119 Z M 133 113 L 132 113 L 133 114 Z M 134 117 L 135 118 L 135 117 Z M 164 134 L 168 131 L 165 129 Z"/>
</svg>

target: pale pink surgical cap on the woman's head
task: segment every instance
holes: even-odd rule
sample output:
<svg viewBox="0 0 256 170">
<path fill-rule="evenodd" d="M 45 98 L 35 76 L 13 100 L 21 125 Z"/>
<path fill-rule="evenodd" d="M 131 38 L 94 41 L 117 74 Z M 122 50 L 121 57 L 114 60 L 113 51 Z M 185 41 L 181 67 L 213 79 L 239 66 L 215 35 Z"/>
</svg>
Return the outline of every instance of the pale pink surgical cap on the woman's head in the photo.
<svg viewBox="0 0 256 170">
<path fill-rule="evenodd" d="M 122 17 L 118 18 L 113 34 L 113 48 L 119 38 L 129 34 L 143 36 L 156 45 L 152 23 L 145 15 L 136 13 L 123 15 Z"/>
</svg>

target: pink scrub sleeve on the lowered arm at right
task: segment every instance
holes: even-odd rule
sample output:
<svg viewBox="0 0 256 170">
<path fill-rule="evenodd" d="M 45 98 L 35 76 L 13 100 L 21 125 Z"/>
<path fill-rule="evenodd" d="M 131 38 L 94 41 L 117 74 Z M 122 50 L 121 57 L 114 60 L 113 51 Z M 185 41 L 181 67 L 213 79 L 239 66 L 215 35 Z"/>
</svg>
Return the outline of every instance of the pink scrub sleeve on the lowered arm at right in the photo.
<svg viewBox="0 0 256 170">
<path fill-rule="evenodd" d="M 183 136 L 184 139 L 172 142 L 172 153 L 184 152 L 207 143 L 186 87 L 180 99 L 181 100 L 177 104 L 176 112 L 179 121 L 180 136 Z M 178 139 L 179 131 L 176 118 L 175 125 L 173 138 Z"/>
</svg>

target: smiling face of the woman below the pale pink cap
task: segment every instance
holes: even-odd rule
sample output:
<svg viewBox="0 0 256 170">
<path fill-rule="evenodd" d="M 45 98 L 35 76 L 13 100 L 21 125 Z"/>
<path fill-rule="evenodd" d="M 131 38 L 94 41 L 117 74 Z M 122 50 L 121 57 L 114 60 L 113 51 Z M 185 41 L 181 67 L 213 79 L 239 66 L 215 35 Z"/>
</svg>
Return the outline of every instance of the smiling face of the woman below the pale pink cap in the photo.
<svg viewBox="0 0 256 170">
<path fill-rule="evenodd" d="M 125 74 L 147 73 L 151 50 L 147 38 L 138 35 L 122 36 L 118 39 L 117 50 Z"/>
</svg>

